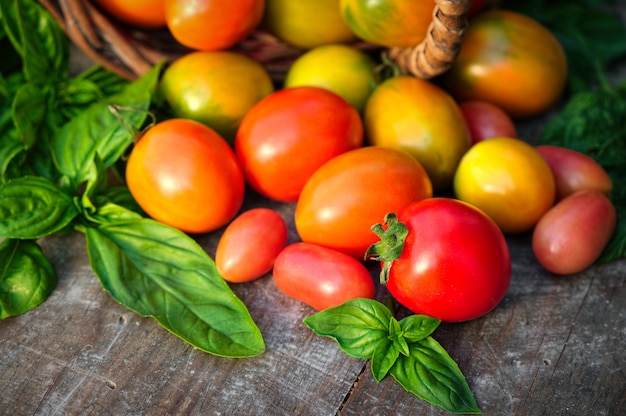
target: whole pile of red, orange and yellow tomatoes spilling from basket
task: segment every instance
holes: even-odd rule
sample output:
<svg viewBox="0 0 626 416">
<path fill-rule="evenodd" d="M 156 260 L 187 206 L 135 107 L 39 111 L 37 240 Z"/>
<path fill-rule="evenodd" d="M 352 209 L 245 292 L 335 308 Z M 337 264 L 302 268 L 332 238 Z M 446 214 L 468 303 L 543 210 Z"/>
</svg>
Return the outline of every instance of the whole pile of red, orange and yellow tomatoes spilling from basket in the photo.
<svg viewBox="0 0 626 416">
<path fill-rule="evenodd" d="M 406 308 L 465 321 L 506 294 L 506 234 L 532 231 L 538 261 L 558 274 L 588 267 L 611 237 L 602 167 L 517 138 L 513 120 L 550 108 L 567 72 L 556 39 L 526 16 L 472 9 L 458 60 L 428 81 L 383 79 L 374 57 L 347 43 L 414 44 L 393 19 L 426 19 L 408 13 L 416 2 L 235 0 L 219 17 L 213 1 L 163 3 L 173 35 L 197 51 L 165 69 L 159 96 L 176 118 L 137 140 L 126 177 L 155 219 L 189 233 L 221 229 L 216 266 L 229 282 L 273 270 L 280 290 L 325 309 L 372 298 L 364 261 L 376 260 Z M 383 13 L 381 34 L 371 21 Z M 316 14 L 343 22 L 323 44 L 303 29 Z M 308 49 L 282 85 L 227 50 L 258 25 Z M 296 238 L 275 211 L 240 212 L 246 192 L 295 204 Z"/>
</svg>

